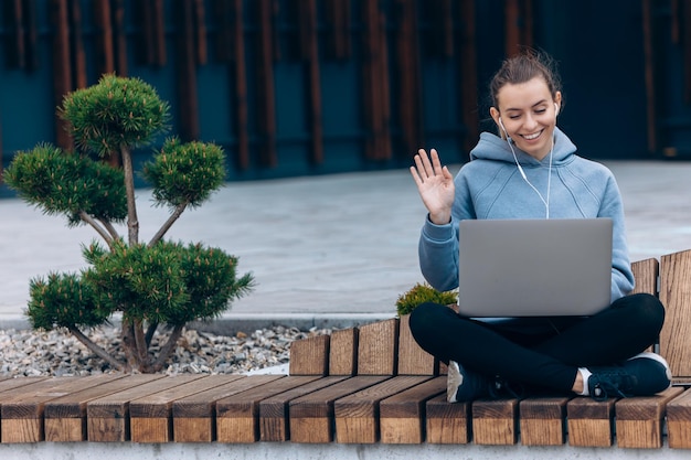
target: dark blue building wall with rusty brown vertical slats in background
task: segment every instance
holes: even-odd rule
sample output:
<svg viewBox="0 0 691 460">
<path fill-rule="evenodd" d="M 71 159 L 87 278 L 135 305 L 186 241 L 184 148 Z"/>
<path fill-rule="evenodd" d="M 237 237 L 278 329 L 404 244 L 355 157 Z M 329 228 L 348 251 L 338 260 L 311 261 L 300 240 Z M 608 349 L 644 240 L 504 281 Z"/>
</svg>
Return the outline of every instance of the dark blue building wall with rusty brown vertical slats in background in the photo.
<svg viewBox="0 0 691 460">
<path fill-rule="evenodd" d="M 2 165 L 38 142 L 65 143 L 62 95 L 104 72 L 153 85 L 172 107 L 169 135 L 223 146 L 228 180 L 401 168 L 417 147 L 463 162 L 479 130 L 493 129 L 487 82 L 519 44 L 559 61 L 560 126 L 584 156 L 683 158 L 690 60 L 678 3 L 3 1 Z"/>
</svg>

